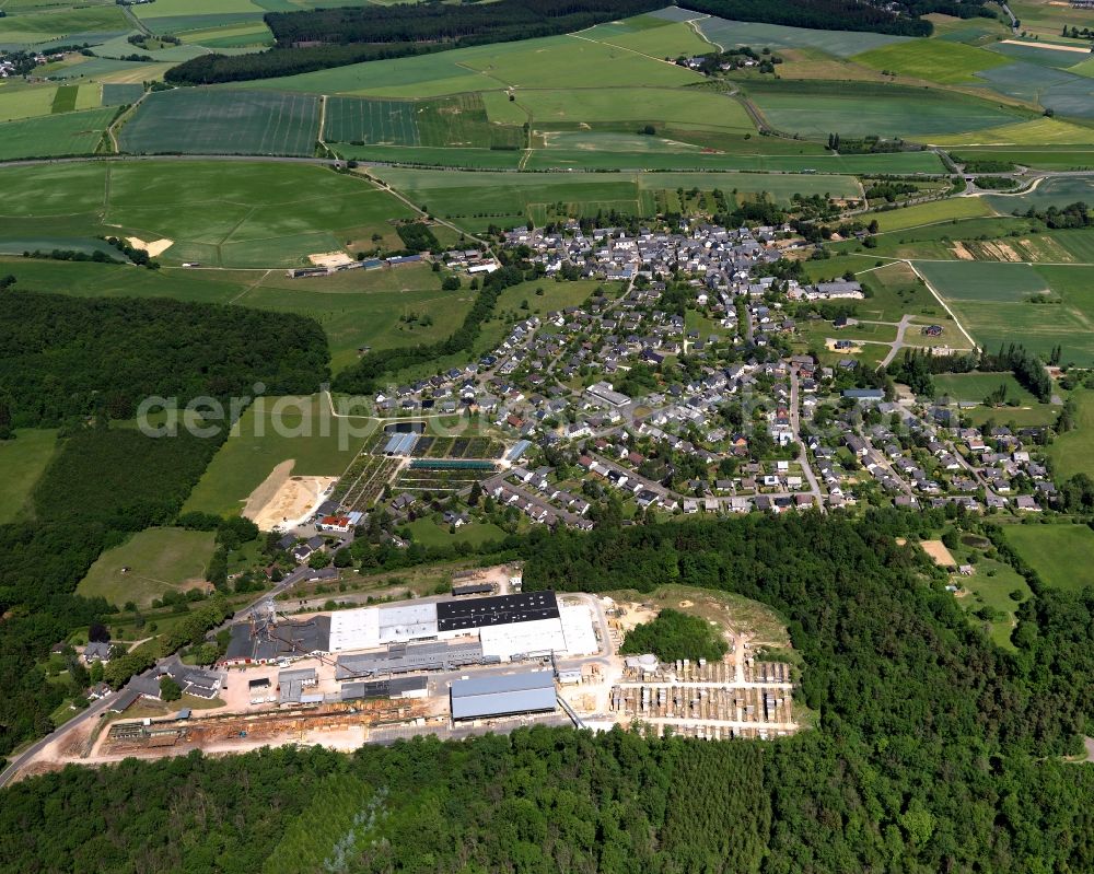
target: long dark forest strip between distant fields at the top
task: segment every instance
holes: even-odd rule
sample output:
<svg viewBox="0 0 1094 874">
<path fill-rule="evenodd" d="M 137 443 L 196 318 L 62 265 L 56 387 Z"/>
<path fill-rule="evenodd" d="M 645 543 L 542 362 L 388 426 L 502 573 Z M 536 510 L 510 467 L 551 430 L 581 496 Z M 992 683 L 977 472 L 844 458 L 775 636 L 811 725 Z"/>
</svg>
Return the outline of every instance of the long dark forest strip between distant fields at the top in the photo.
<svg viewBox="0 0 1094 874">
<path fill-rule="evenodd" d="M 168 82 L 269 79 L 361 61 L 572 33 L 652 12 L 659 0 L 498 0 L 400 3 L 269 12 L 277 45 L 246 55 L 202 55 L 167 71 Z"/>
</svg>

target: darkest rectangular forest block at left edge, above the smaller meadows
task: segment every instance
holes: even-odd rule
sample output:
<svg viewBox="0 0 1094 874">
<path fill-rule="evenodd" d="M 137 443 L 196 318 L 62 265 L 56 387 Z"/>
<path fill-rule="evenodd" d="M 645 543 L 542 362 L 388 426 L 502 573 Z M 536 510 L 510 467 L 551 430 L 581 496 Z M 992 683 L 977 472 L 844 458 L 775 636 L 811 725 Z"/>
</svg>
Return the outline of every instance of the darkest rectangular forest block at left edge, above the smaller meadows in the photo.
<svg viewBox="0 0 1094 874">
<path fill-rule="evenodd" d="M 327 370 L 312 318 L 166 299 L 4 292 L 0 424 L 56 426 L 105 413 L 126 419 L 152 395 L 312 394 Z"/>
</svg>

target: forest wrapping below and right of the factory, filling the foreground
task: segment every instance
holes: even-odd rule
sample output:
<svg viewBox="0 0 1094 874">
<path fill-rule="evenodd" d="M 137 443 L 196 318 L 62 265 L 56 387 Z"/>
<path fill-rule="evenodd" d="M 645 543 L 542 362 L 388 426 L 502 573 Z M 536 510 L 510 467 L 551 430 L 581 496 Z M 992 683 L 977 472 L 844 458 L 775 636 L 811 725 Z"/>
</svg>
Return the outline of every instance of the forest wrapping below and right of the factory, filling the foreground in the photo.
<svg viewBox="0 0 1094 874">
<path fill-rule="evenodd" d="M 733 591 L 785 617 L 814 730 L 618 731 L 267 750 L 61 773 L 0 796 L 0 867 L 102 872 L 1094 870 L 1094 591 L 996 648 L 894 535 L 933 512 L 748 516 L 525 541 L 525 586 Z M 958 520 L 959 522 L 959 520 Z M 1036 584 L 1036 580 L 1032 579 Z"/>
</svg>

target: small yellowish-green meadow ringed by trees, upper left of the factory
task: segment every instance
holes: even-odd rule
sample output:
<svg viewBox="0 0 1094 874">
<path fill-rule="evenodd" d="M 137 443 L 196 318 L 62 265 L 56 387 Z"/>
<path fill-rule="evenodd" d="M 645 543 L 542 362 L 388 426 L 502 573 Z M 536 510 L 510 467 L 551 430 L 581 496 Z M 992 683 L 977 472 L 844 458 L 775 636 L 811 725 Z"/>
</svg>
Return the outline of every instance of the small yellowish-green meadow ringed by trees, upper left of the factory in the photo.
<svg viewBox="0 0 1094 874">
<path fill-rule="evenodd" d="M 77 586 L 84 597 L 103 597 L 118 607 L 127 601 L 148 607 L 168 592 L 203 587 L 212 558 L 213 532 L 148 528 L 107 549 Z"/>
</svg>

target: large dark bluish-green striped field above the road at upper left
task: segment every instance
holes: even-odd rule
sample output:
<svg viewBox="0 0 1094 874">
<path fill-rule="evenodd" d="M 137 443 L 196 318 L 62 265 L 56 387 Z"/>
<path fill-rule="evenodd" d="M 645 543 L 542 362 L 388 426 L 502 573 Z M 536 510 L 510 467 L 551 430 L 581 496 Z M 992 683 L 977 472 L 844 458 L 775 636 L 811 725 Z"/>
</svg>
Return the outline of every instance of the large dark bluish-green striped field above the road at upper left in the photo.
<svg viewBox="0 0 1094 874">
<path fill-rule="evenodd" d="M 313 96 L 178 89 L 151 94 L 121 129 L 137 154 L 311 155 L 319 132 Z"/>
</svg>

